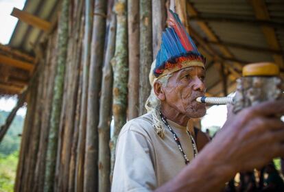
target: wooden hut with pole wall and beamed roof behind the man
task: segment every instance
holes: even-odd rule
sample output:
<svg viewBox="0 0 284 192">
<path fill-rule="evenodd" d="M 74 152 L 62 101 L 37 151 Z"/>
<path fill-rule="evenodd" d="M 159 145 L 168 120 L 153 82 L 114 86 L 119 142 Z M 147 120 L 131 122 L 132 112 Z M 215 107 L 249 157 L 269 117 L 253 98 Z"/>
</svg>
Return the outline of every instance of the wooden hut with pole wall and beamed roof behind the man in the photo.
<svg viewBox="0 0 284 192">
<path fill-rule="evenodd" d="M 28 88 L 15 191 L 110 190 L 117 135 L 145 112 L 168 8 L 207 58 L 208 95 L 234 91 L 250 62 L 283 72 L 280 0 L 27 0 L 0 46 L 0 95 Z"/>
</svg>

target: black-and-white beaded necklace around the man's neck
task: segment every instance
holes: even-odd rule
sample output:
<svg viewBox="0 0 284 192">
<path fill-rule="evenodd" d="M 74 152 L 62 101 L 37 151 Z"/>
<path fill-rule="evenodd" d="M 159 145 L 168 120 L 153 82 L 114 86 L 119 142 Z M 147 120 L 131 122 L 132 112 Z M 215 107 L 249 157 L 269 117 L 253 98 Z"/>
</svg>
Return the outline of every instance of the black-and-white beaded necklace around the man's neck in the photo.
<svg viewBox="0 0 284 192">
<path fill-rule="evenodd" d="M 185 165 L 187 165 L 189 163 L 189 159 L 187 158 L 187 155 L 185 154 L 184 150 L 182 149 L 182 145 L 180 143 L 180 139 L 178 138 L 178 136 L 176 135 L 176 133 L 174 132 L 174 130 L 171 128 L 171 126 L 169 125 L 169 123 L 167 123 L 167 119 L 165 118 L 165 116 L 161 113 L 161 111 L 158 112 L 158 114 L 160 115 L 162 121 L 165 123 L 166 127 L 169 129 L 169 131 L 171 132 L 171 134 L 173 134 L 174 136 L 174 141 L 176 141 L 176 144 L 178 145 L 178 149 L 180 150 L 180 153 L 182 154 L 183 158 L 185 158 Z M 196 147 L 196 143 L 193 139 L 193 136 L 191 135 L 191 133 L 187 130 L 187 134 L 189 135 L 189 139 L 191 140 L 192 143 L 192 147 L 193 147 L 193 156 L 194 158 L 196 158 L 197 155 L 197 147 Z"/>
</svg>

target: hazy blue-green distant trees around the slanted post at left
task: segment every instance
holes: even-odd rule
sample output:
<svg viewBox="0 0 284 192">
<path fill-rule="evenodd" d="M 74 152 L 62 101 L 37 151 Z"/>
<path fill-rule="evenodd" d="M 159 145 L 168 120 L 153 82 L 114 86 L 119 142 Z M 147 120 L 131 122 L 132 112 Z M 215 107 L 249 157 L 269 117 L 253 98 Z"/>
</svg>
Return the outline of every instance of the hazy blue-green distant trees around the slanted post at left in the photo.
<svg viewBox="0 0 284 192">
<path fill-rule="evenodd" d="M 5 123 L 10 112 L 0 110 L 0 126 Z M 0 143 L 0 154 L 8 156 L 19 150 L 21 137 L 19 134 L 23 132 L 23 117 L 16 115 L 8 132 L 5 134 L 3 141 Z"/>
</svg>

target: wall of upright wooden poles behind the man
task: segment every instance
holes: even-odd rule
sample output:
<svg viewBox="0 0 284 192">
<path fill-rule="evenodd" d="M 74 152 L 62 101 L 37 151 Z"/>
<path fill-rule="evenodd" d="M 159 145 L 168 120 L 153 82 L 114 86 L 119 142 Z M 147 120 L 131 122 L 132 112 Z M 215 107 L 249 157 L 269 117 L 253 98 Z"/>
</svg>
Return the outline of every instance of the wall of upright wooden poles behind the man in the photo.
<svg viewBox="0 0 284 192">
<path fill-rule="evenodd" d="M 110 191 L 117 136 L 145 113 L 173 3 L 61 1 L 27 93 L 14 191 Z"/>
</svg>

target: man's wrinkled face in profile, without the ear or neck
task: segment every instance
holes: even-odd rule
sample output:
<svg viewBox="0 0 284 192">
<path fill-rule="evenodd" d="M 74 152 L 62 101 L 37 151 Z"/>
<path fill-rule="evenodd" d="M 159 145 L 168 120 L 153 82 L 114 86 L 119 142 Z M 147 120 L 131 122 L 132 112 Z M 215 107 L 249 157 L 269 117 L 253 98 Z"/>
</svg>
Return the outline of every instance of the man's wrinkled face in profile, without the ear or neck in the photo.
<svg viewBox="0 0 284 192">
<path fill-rule="evenodd" d="M 205 71 L 202 67 L 187 67 L 176 71 L 169 77 L 169 82 L 163 90 L 165 92 L 163 104 L 189 118 L 205 115 L 205 104 L 196 101 L 196 97 L 204 96 L 206 90 Z"/>
</svg>

